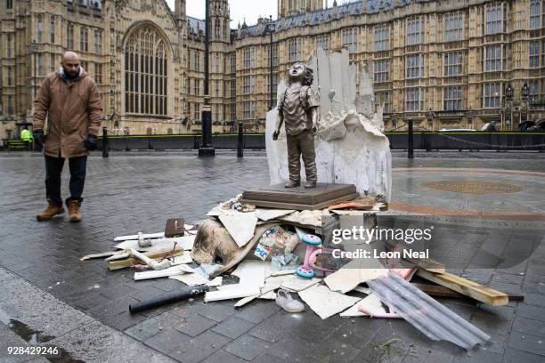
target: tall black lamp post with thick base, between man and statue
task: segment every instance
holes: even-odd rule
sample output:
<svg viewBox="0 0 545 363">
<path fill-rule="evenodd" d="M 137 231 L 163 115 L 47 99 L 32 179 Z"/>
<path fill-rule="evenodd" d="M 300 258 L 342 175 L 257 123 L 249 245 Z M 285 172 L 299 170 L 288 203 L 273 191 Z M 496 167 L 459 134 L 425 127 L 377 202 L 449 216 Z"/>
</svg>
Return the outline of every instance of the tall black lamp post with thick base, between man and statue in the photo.
<svg viewBox="0 0 545 363">
<path fill-rule="evenodd" d="M 210 45 L 210 0 L 206 0 L 205 7 L 205 94 L 202 106 L 202 141 L 199 148 L 199 157 L 214 157 L 216 150 L 212 145 L 212 109 L 210 108 L 209 67 L 208 55 Z"/>
</svg>

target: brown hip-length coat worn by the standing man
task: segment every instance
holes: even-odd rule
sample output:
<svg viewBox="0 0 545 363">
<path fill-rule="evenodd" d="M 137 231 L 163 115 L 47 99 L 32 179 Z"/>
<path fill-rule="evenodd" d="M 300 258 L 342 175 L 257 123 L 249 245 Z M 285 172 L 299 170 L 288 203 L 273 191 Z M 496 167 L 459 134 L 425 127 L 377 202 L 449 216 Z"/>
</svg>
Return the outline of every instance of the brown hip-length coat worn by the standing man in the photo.
<svg viewBox="0 0 545 363">
<path fill-rule="evenodd" d="M 44 154 L 49 157 L 86 157 L 84 142 L 97 135 L 102 101 L 94 80 L 80 68 L 74 79 L 58 69 L 45 77 L 34 101 L 34 130 L 42 131 L 47 117 Z"/>
</svg>

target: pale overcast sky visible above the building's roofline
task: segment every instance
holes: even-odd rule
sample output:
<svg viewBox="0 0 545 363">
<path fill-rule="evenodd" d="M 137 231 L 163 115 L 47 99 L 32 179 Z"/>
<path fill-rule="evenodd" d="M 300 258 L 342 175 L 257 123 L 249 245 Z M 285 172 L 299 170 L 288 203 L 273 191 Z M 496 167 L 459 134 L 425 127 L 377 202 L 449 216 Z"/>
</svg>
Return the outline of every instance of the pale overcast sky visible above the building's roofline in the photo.
<svg viewBox="0 0 545 363">
<path fill-rule="evenodd" d="M 167 0 L 167 3 L 174 10 L 175 0 Z M 340 0 L 338 4 L 346 3 L 346 0 Z M 237 28 L 237 25 L 246 19 L 248 25 L 256 24 L 260 16 L 268 18 L 273 15 L 276 19 L 277 0 L 231 0 L 229 1 L 231 9 L 231 28 Z M 328 0 L 328 6 L 333 4 L 333 0 Z M 204 19 L 205 0 L 187 0 L 186 11 L 193 18 Z"/>
</svg>

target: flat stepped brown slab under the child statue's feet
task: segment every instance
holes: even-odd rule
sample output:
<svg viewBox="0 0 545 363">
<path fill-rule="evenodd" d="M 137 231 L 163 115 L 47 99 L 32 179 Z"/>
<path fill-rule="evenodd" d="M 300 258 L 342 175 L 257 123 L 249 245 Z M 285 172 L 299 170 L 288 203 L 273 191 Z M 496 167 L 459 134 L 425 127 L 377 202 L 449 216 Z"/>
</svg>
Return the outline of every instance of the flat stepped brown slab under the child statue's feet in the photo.
<svg viewBox="0 0 545 363">
<path fill-rule="evenodd" d="M 331 199 L 351 195 L 356 192 L 353 184 L 329 184 L 319 182 L 316 188 L 285 188 L 283 184 L 275 184 L 259 190 L 245 190 L 242 199 L 268 202 L 295 203 L 315 205 Z"/>
</svg>

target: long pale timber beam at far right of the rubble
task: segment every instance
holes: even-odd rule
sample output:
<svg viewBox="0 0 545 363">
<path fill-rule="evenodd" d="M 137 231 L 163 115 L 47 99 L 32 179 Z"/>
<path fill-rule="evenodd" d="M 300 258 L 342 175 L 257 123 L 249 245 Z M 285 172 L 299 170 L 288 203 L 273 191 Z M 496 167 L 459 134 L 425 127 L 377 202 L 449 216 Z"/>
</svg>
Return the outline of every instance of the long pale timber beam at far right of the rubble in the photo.
<svg viewBox="0 0 545 363">
<path fill-rule="evenodd" d="M 434 273 L 419 269 L 417 274 L 421 278 L 426 278 L 429 281 L 435 282 L 435 284 L 448 287 L 481 303 L 487 303 L 492 306 L 507 305 L 509 303 L 508 294 L 501 293 L 500 291 L 477 284 L 474 281 L 461 278 L 449 272 Z"/>
</svg>

